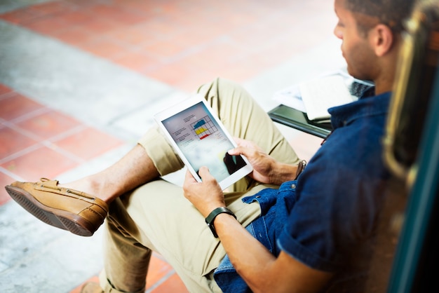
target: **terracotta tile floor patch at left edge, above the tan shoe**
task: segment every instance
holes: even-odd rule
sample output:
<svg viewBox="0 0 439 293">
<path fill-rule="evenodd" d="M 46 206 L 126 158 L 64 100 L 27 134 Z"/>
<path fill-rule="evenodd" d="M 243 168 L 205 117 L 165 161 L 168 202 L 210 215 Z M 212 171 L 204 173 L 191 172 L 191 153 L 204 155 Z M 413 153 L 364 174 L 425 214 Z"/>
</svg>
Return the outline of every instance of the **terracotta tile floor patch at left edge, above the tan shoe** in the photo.
<svg viewBox="0 0 439 293">
<path fill-rule="evenodd" d="M 36 181 L 55 177 L 123 142 L 71 116 L 43 106 L 2 86 L 0 95 L 0 170 L 2 177 Z M 87 147 L 93 144 L 93 148 Z M 8 199 L 1 189 L 0 198 Z"/>
</svg>

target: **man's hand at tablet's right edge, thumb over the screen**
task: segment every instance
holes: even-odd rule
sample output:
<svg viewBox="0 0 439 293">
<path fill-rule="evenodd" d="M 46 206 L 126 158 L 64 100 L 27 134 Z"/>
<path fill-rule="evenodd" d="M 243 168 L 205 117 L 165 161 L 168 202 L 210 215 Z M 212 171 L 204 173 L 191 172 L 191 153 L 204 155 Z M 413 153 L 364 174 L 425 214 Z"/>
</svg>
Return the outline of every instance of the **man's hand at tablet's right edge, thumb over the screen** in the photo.
<svg viewBox="0 0 439 293">
<path fill-rule="evenodd" d="M 261 183 L 278 185 L 294 179 L 297 166 L 279 163 L 256 144 L 248 140 L 240 138 L 234 139 L 238 147 L 231 149 L 229 154 L 233 156 L 243 155 L 248 158 L 248 161 L 253 166 L 250 177 Z"/>
</svg>

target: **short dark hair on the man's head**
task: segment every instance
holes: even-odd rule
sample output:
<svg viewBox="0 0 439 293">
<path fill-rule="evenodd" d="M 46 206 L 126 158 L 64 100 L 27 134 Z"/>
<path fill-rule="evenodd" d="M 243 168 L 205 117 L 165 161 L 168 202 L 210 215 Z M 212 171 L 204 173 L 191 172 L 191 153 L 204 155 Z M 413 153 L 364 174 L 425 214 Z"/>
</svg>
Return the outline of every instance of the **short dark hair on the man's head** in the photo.
<svg viewBox="0 0 439 293">
<path fill-rule="evenodd" d="M 345 6 L 353 13 L 378 18 L 379 22 L 398 33 L 404 30 L 404 22 L 410 17 L 415 1 L 417 0 L 345 0 Z M 363 23 L 358 23 L 358 28 L 365 32 L 370 29 Z"/>
</svg>

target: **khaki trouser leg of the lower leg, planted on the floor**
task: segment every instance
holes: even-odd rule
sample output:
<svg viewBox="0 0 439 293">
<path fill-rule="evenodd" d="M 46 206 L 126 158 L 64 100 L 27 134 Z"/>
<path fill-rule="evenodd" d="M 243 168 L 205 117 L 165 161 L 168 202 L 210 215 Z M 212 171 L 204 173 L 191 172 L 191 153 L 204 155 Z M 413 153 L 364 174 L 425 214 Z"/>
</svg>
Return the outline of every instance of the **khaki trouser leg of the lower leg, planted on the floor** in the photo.
<svg viewBox="0 0 439 293">
<path fill-rule="evenodd" d="M 227 206 L 243 226 L 259 216 L 260 207 L 241 198 L 263 188 L 227 194 Z M 190 292 L 220 292 L 211 273 L 224 258 L 224 248 L 179 186 L 158 179 L 115 200 L 105 243 L 101 285 L 106 292 L 142 292 L 151 250 L 173 266 Z"/>
</svg>

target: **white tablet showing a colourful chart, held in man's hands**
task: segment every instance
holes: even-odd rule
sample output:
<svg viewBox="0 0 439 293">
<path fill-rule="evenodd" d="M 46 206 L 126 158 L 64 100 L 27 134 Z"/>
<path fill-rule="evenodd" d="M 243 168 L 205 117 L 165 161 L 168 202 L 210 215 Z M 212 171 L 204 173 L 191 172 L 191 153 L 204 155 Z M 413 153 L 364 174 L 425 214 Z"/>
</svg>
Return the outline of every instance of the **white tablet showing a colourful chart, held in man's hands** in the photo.
<svg viewBox="0 0 439 293">
<path fill-rule="evenodd" d="M 154 118 L 198 182 L 202 166 L 209 168 L 223 190 L 252 171 L 247 158 L 227 154 L 236 143 L 201 95 L 189 97 Z"/>
</svg>

